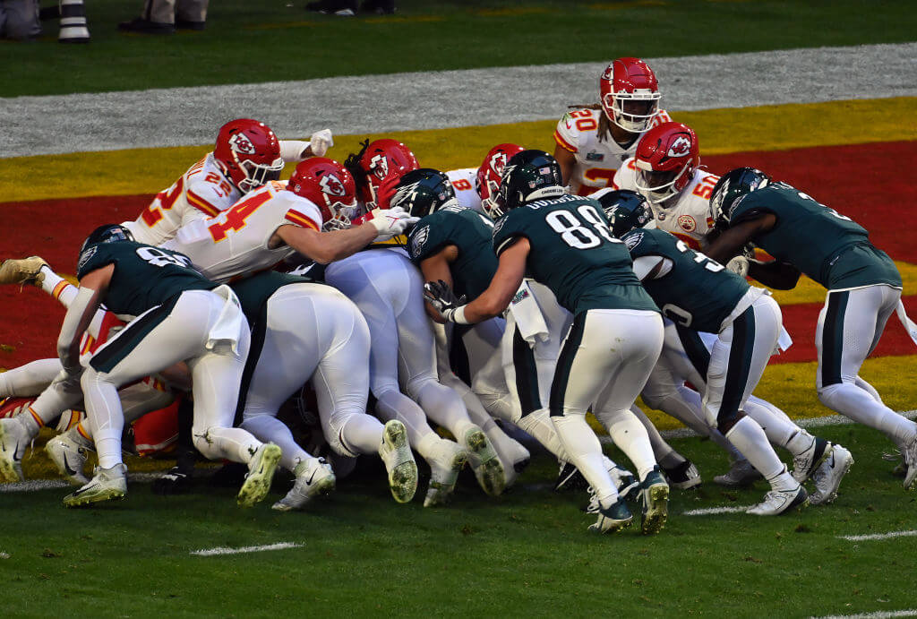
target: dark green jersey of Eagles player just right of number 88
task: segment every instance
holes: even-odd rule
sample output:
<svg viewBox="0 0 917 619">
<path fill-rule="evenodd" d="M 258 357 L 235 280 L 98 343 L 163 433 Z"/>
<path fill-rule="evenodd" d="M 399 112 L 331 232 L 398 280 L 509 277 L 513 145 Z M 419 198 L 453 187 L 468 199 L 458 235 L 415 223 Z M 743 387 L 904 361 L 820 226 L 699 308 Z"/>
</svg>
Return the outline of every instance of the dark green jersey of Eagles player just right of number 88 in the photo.
<svg viewBox="0 0 917 619">
<path fill-rule="evenodd" d="M 634 259 L 661 256 L 672 261 L 662 277 L 643 281 L 646 292 L 676 324 L 718 333 L 750 286 L 719 262 L 658 229 L 636 228 L 621 238 Z"/>
</svg>

